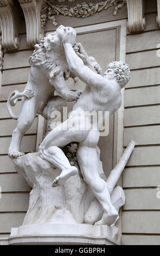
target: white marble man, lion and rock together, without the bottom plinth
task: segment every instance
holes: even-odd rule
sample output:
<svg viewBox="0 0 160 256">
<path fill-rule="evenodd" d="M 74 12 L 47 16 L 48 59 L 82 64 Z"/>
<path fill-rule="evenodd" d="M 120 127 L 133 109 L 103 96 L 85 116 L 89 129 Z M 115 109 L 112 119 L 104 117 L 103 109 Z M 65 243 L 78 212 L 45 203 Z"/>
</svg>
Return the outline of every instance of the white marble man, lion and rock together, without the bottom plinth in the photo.
<svg viewBox="0 0 160 256">
<path fill-rule="evenodd" d="M 33 187 L 33 191 L 39 179 L 39 175 L 36 173 L 42 172 L 44 175 L 44 170 L 46 178 L 43 176 L 43 179 L 45 182 L 47 181 L 45 186 L 50 191 L 47 192 L 49 193 L 48 197 L 51 197 L 54 192 L 56 195 L 58 193 L 56 189 L 60 191 L 62 187 L 65 188 L 66 198 L 68 197 L 66 200 L 69 202 L 67 205 L 69 204 L 70 206 L 67 208 L 68 206 L 65 204 L 63 208 L 65 211 L 70 211 L 69 214 L 72 214 L 74 218 L 73 223 L 113 225 L 118 219 L 118 210 L 124 202 L 117 207 L 113 202 L 112 193 L 135 144 L 134 142 L 130 143 L 124 152 L 125 158 L 121 157 L 120 162 L 112 170 L 108 179 L 102 177 L 100 172 L 103 172 L 103 170 L 100 171 L 100 153 L 97 146 L 99 123 L 97 122 L 97 129 L 95 129 L 95 125 L 93 129 L 93 120 L 88 113 L 108 111 L 112 115 L 117 111 L 121 106 L 121 88 L 125 87 L 130 80 L 129 66 L 121 61 L 114 61 L 108 64 L 105 76 L 101 76 L 101 68 L 97 61 L 88 56 L 80 43 L 76 43 L 75 30 L 64 26 L 60 26 L 56 29 L 56 32 L 50 33 L 41 39 L 39 45 L 35 45 L 35 50 L 29 59 L 29 63 L 31 65 L 30 75 L 24 92 L 14 91 L 8 99 L 8 111 L 12 118 L 18 120 L 17 127 L 12 133 L 9 147 L 11 160 L 15 163 L 17 171 L 19 168 L 19 172 Z M 69 90 L 65 82 L 69 77 L 78 77 L 84 82 L 86 84 L 84 92 L 81 90 L 76 92 Z M 60 96 L 53 95 L 55 90 Z M 18 97 L 22 97 L 22 106 L 20 115 L 16 117 L 12 112 L 11 106 L 16 104 Z M 24 133 L 33 123 L 36 114 L 43 115 L 49 122 L 50 114 L 57 110 L 61 112 L 62 107 L 66 106 L 66 101 L 75 101 L 69 118 L 53 130 L 50 129 L 40 144 L 37 153 L 29 153 L 27 154 L 28 156 L 24 155 L 21 152 L 21 141 Z M 73 124 L 72 127 L 71 125 L 68 127 L 68 124 L 71 123 Z M 75 164 L 73 161 L 71 164 L 63 150 L 66 146 L 69 147 L 68 145 L 74 145 L 73 152 L 72 150 L 71 152 L 74 154 Z M 68 155 L 70 157 L 72 155 L 71 152 Z M 28 157 L 28 160 L 26 157 Z M 29 162 L 28 165 L 30 164 L 29 167 L 25 164 L 27 161 Z M 32 161 L 34 161 L 34 164 Z M 56 176 L 53 177 L 54 172 Z M 35 174 L 33 175 L 33 173 Z M 51 182 L 52 177 L 53 180 Z M 79 186 L 81 186 L 79 191 L 76 188 L 78 179 L 74 180 L 75 182 L 71 182 L 74 177 L 79 177 Z M 41 184 L 41 187 L 43 186 Z M 40 188 L 36 187 L 36 190 L 38 189 L 40 190 Z M 120 189 L 120 193 L 123 193 L 122 188 L 118 189 Z M 75 191 L 78 191 L 76 198 L 74 198 Z M 29 206 L 30 209 L 27 215 L 30 214 L 30 217 L 28 219 L 25 217 L 23 224 L 59 223 L 59 221 L 56 221 L 57 217 L 53 218 L 53 215 L 57 211 L 60 214 L 62 207 L 54 207 L 54 210 L 52 207 L 53 205 L 58 205 L 58 202 L 57 204 L 55 202 L 47 203 L 48 209 L 52 209 L 49 210 L 50 221 L 47 222 L 46 217 L 44 217 L 46 216 L 44 214 L 46 209 L 43 209 L 42 214 L 42 208 L 44 207 L 42 197 L 44 195 L 41 194 L 41 191 L 36 192 L 41 194 L 40 200 L 40 197 L 38 199 L 38 196 L 33 196 L 34 192 L 31 193 L 30 204 L 33 201 L 36 203 L 32 204 L 34 205 L 32 208 Z M 87 197 L 89 193 L 90 196 Z M 114 194 L 116 195 L 116 193 L 119 192 Z M 79 198 L 79 201 L 77 198 Z M 120 196 L 120 198 L 123 198 L 123 196 Z M 79 206 L 76 205 L 76 201 L 79 202 Z M 37 208 L 35 210 L 35 205 L 39 205 L 39 210 Z M 75 212 L 76 207 L 83 207 L 82 217 L 78 215 L 78 212 Z M 39 212 L 39 220 L 37 219 L 37 212 Z M 64 220 L 63 223 L 65 223 Z"/>
</svg>

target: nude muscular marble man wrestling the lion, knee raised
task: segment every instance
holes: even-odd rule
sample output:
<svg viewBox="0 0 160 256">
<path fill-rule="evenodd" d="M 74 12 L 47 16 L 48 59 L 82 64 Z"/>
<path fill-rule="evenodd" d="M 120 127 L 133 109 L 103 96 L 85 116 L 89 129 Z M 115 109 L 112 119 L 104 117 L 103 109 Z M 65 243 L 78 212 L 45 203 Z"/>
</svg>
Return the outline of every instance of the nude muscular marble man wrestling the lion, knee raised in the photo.
<svg viewBox="0 0 160 256">
<path fill-rule="evenodd" d="M 61 148 L 71 142 L 78 142 L 77 157 L 84 181 L 91 186 L 104 210 L 103 217 L 95 224 L 111 225 L 116 221 L 118 212 L 111 203 L 107 182 L 100 178 L 98 172 L 99 130 L 86 129 L 91 119 L 86 117 L 85 111 L 109 111 L 110 114 L 116 112 L 121 106 L 120 90 L 129 81 L 130 70 L 125 63 L 114 62 L 108 65 L 105 76 L 100 76 L 93 69 L 93 63 L 84 48 L 80 44 L 75 45 L 75 38 L 76 33 L 73 28 L 64 28 L 62 40 L 69 69 L 87 85 L 76 101 L 69 118 L 44 138 L 39 154 L 42 159 L 62 170 L 60 176 L 53 181 L 53 186 L 60 186 L 71 175 L 78 172 L 74 166 L 70 165 Z M 74 45 L 76 53 L 73 49 Z M 81 120 L 81 126 L 79 120 Z M 72 122 L 73 129 L 72 127 L 67 129 L 67 125 Z"/>
</svg>

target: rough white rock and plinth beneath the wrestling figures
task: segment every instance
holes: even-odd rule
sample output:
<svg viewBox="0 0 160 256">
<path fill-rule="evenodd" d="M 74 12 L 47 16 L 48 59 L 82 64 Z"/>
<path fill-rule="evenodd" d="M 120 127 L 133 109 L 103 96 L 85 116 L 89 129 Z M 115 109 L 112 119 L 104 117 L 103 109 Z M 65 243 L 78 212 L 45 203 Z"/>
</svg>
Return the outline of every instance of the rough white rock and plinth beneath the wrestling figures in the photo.
<svg viewBox="0 0 160 256">
<path fill-rule="evenodd" d="M 12 228 L 8 238 L 0 240 L 8 245 L 110 245 L 118 244 L 118 228 L 115 223 L 94 225 L 103 209 L 91 188 L 84 182 L 79 171 L 63 186 L 52 187 L 52 181 L 60 170 L 41 159 L 38 153 L 29 153 L 12 160 L 18 173 L 32 187 L 29 208 L 23 224 Z M 77 164 L 75 163 L 76 167 Z M 100 175 L 106 179 L 101 162 Z M 125 202 L 121 187 L 111 194 L 114 207 Z"/>
</svg>

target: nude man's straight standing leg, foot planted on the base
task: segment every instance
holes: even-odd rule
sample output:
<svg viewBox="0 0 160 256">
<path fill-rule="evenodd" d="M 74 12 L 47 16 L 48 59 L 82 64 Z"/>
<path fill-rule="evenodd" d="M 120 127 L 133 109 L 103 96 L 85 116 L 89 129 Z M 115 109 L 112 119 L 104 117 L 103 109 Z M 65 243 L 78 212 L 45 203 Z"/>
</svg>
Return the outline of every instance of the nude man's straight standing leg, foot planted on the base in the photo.
<svg viewBox="0 0 160 256">
<path fill-rule="evenodd" d="M 98 141 L 99 131 L 89 131 L 86 139 L 79 143 L 76 155 L 84 181 L 91 186 L 95 197 L 104 209 L 103 217 L 95 225 L 111 225 L 116 221 L 118 212 L 111 203 L 107 182 L 100 178 L 98 172 L 99 162 L 96 150 Z"/>
</svg>

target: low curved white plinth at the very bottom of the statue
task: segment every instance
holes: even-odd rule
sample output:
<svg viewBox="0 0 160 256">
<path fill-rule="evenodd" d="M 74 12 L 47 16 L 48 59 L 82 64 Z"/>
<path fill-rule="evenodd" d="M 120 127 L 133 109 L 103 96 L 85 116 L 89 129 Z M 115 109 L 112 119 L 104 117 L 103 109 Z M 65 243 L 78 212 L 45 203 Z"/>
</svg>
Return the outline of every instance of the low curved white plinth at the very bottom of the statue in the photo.
<svg viewBox="0 0 160 256">
<path fill-rule="evenodd" d="M 91 224 L 31 224 L 12 228 L 8 245 L 117 245 L 116 227 Z M 4 241 L 3 241 L 4 242 Z"/>
</svg>

